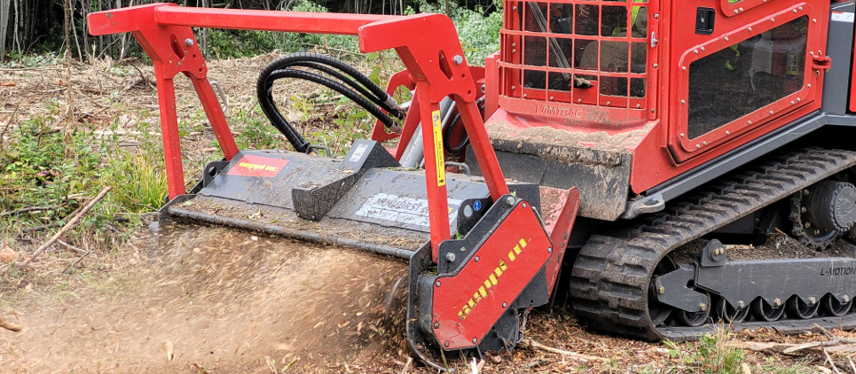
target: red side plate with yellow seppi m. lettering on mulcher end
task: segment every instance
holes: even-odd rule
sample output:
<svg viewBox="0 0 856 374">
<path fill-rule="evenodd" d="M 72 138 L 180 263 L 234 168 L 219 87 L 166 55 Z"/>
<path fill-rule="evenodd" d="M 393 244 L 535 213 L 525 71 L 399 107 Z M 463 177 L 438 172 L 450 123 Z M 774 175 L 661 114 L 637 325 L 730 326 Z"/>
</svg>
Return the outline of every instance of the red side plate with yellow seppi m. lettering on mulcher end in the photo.
<svg viewBox="0 0 856 374">
<path fill-rule="evenodd" d="M 532 207 L 518 202 L 453 277 L 438 277 L 434 333 L 444 349 L 475 347 L 544 268 L 553 247 Z"/>
</svg>

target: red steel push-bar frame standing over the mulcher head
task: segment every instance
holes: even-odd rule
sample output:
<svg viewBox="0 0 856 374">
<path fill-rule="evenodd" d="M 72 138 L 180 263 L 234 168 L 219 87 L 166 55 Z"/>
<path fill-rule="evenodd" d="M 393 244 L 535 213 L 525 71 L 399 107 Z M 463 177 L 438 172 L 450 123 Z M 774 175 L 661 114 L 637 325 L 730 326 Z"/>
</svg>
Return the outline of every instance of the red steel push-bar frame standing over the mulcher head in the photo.
<svg viewBox="0 0 856 374">
<path fill-rule="evenodd" d="M 444 97 L 452 95 L 467 129 L 475 158 L 482 168 L 491 198 L 508 193 L 496 153 L 484 129 L 475 105 L 475 82 L 463 57 L 452 20 L 441 14 L 382 16 L 368 14 L 249 11 L 231 9 L 185 8 L 176 4 L 146 4 L 106 12 L 90 13 L 91 35 L 133 33 L 143 50 L 152 58 L 161 111 L 163 152 L 166 160 L 169 197 L 185 193 L 181 143 L 178 136 L 176 92 L 173 78 L 185 74 L 193 83 L 202 107 L 214 130 L 226 160 L 238 152 L 232 131 L 217 101 L 208 67 L 202 58 L 191 27 L 216 27 L 246 30 L 357 35 L 359 50 L 367 53 L 395 49 L 412 81 L 416 82 L 419 118 L 425 152 L 428 218 L 431 246 L 437 261 L 437 245 L 450 238 L 448 202 L 444 173 L 442 139 L 435 139 L 432 114 Z M 435 143 L 435 140 L 437 143 Z M 435 150 L 440 144 L 439 152 Z"/>
</svg>

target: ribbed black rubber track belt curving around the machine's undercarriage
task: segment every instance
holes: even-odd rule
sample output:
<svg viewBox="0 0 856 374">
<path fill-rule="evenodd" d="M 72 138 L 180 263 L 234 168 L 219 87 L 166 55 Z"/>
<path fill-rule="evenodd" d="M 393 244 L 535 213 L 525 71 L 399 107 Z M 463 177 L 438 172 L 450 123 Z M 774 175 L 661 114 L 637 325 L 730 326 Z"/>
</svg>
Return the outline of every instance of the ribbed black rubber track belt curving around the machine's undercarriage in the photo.
<svg viewBox="0 0 856 374">
<path fill-rule="evenodd" d="M 648 316 L 648 284 L 666 254 L 853 165 L 856 152 L 789 152 L 643 217 L 624 235 L 593 236 L 571 272 L 577 316 L 596 329 L 630 338 L 668 338 Z"/>
</svg>

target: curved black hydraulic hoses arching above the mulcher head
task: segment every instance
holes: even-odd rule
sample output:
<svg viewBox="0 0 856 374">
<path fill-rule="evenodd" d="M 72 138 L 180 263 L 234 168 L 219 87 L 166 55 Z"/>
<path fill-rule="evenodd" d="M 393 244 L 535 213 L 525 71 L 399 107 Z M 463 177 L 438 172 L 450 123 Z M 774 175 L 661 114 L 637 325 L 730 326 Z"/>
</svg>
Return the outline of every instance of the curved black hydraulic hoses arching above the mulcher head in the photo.
<svg viewBox="0 0 856 374">
<path fill-rule="evenodd" d="M 315 69 L 332 78 L 296 67 Z M 310 142 L 286 121 L 273 100 L 273 82 L 283 78 L 302 79 L 335 90 L 372 113 L 387 128 L 400 130 L 392 117 L 403 119 L 404 108 L 365 74 L 336 58 L 318 53 L 292 53 L 273 60 L 262 69 L 256 83 L 256 94 L 259 105 L 273 127 L 286 136 L 297 152 L 307 152 Z"/>
</svg>

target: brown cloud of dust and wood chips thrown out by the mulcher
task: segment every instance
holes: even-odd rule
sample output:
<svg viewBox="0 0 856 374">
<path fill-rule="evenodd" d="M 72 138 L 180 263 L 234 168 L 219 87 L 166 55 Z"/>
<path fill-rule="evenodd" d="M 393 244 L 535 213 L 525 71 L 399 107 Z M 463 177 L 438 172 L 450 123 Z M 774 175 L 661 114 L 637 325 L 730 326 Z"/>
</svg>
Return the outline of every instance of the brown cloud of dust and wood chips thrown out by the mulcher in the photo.
<svg viewBox="0 0 856 374">
<path fill-rule="evenodd" d="M 371 361 L 404 351 L 406 268 L 334 246 L 181 227 L 157 239 L 145 271 L 63 303 L 19 306 L 27 327 L 0 337 L 0 372 L 325 372 Z"/>
</svg>

